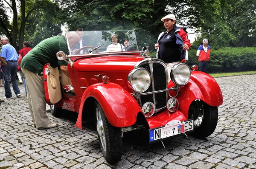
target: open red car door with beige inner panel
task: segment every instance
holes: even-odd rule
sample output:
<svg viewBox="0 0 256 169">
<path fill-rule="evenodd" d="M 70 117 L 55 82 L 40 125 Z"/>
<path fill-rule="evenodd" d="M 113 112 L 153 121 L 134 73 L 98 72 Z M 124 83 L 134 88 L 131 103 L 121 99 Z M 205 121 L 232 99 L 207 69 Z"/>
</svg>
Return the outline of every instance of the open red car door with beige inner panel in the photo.
<svg viewBox="0 0 256 169">
<path fill-rule="evenodd" d="M 59 68 L 52 68 L 50 64 L 44 66 L 44 92 L 47 104 L 58 103 L 62 99 Z"/>
</svg>

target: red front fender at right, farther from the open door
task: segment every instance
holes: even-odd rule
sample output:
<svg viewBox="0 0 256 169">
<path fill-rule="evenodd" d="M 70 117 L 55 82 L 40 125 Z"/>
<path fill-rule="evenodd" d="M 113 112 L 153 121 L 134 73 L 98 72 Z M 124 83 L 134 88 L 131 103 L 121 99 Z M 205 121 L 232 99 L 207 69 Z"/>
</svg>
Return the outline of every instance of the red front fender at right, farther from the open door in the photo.
<svg viewBox="0 0 256 169">
<path fill-rule="evenodd" d="M 192 71 L 189 82 L 180 88 L 177 99 L 179 110 L 188 118 L 189 106 L 195 99 L 200 99 L 210 106 L 223 103 L 221 88 L 212 76 L 201 71 Z"/>
</svg>

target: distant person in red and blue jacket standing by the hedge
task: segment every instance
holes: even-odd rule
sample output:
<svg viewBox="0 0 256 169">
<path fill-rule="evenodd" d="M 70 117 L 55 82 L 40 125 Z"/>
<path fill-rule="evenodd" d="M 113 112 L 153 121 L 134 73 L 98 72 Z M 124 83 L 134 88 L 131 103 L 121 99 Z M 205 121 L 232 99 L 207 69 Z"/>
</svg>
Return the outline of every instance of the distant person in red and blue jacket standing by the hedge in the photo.
<svg viewBox="0 0 256 169">
<path fill-rule="evenodd" d="M 208 44 L 208 39 L 203 40 L 203 45 L 200 45 L 198 51 L 196 52 L 196 56 L 198 56 L 199 61 L 199 70 L 207 73 L 208 62 L 210 59 L 210 47 Z"/>
</svg>

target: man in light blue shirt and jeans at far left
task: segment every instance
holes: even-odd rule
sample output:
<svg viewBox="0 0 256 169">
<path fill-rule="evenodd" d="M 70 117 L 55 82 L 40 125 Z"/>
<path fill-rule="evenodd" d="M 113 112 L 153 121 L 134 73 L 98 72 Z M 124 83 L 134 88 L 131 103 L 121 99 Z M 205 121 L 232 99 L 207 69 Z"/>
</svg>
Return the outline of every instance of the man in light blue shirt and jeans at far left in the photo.
<svg viewBox="0 0 256 169">
<path fill-rule="evenodd" d="M 15 48 L 9 44 L 9 39 L 7 37 L 1 37 L 1 43 L 2 50 L 0 56 L 7 63 L 6 66 L 2 67 L 5 99 L 12 99 L 12 90 L 9 83 L 10 77 L 16 97 L 20 97 L 20 89 L 16 81 L 18 67 L 17 60 L 19 59 L 19 56 Z"/>
</svg>

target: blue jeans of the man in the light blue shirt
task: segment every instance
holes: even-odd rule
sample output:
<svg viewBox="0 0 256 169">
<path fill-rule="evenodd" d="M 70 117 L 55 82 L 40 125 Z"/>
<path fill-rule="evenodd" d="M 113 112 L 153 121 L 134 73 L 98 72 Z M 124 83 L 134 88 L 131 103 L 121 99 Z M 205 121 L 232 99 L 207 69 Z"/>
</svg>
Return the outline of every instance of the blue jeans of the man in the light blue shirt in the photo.
<svg viewBox="0 0 256 169">
<path fill-rule="evenodd" d="M 15 61 L 7 61 L 7 66 L 2 66 L 3 70 L 3 83 L 4 83 L 4 95 L 6 98 L 12 97 L 12 90 L 9 83 L 9 78 L 11 77 L 12 89 L 15 94 L 20 94 L 20 89 L 17 83 L 17 68 L 18 64 Z"/>
</svg>

